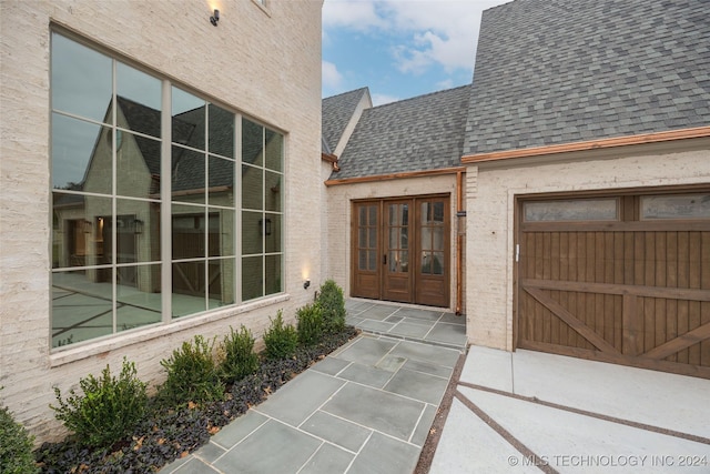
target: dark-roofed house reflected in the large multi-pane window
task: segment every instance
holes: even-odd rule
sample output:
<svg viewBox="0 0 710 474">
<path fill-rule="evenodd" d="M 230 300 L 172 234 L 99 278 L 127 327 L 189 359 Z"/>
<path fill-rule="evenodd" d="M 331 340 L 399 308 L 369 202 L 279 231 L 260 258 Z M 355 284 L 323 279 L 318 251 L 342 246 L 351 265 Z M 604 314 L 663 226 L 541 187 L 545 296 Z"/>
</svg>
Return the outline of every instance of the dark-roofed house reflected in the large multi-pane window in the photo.
<svg viewBox="0 0 710 474">
<path fill-rule="evenodd" d="M 153 138 L 160 137 L 161 111 L 122 97 L 116 98 L 116 103 L 118 128 L 99 130 L 83 181 L 65 186 L 82 194 L 54 193 L 53 266 L 85 268 L 82 271 L 91 282 L 110 282 L 109 265 L 114 262 L 161 261 L 162 143 Z M 109 107 L 105 121 L 112 113 Z M 217 259 L 235 255 L 234 123 L 233 113 L 212 104 L 172 119 L 172 290 L 203 296 L 206 285 L 209 297 L 219 300 L 219 305 L 235 301 L 234 262 Z M 85 194 L 110 194 L 113 145 L 116 194 L 148 198 L 119 201 L 115 232 L 111 199 Z M 282 291 L 283 135 L 244 119 L 241 158 L 245 301 Z M 116 269 L 116 284 L 141 292 L 160 292 L 160 276 L 159 265 Z M 180 311 L 176 315 L 181 315 Z"/>
</svg>

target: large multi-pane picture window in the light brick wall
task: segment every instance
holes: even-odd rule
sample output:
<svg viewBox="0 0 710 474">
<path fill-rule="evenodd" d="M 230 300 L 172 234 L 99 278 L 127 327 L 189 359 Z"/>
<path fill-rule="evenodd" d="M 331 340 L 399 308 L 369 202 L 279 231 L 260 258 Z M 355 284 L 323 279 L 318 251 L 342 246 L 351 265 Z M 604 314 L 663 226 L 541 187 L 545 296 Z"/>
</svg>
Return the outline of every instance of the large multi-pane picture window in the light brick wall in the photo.
<svg viewBox="0 0 710 474">
<path fill-rule="evenodd" d="M 53 347 L 283 291 L 283 134 L 54 32 L 51 137 Z"/>
</svg>

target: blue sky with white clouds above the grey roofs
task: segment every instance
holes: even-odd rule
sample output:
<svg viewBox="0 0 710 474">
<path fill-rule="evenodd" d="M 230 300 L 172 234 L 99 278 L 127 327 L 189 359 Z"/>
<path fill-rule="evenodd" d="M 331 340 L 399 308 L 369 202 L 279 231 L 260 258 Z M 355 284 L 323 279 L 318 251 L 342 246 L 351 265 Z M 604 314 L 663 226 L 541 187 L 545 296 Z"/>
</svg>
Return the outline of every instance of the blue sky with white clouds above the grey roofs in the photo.
<svg viewBox="0 0 710 474">
<path fill-rule="evenodd" d="M 379 105 L 470 83 L 483 10 L 510 0 L 325 0 L 323 90 Z"/>
</svg>

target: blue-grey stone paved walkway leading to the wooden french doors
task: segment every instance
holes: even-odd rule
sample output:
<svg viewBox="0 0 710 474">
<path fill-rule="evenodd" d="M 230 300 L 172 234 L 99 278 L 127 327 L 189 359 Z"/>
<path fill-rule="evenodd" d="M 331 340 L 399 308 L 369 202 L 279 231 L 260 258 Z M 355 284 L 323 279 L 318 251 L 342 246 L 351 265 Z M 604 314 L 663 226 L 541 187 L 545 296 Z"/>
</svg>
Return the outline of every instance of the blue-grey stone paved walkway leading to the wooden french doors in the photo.
<svg viewBox="0 0 710 474">
<path fill-rule="evenodd" d="M 465 345 L 430 345 L 416 332 L 444 311 L 353 300 L 346 309 L 359 336 L 162 472 L 412 473 Z M 422 340 L 407 340 L 413 332 Z"/>
</svg>

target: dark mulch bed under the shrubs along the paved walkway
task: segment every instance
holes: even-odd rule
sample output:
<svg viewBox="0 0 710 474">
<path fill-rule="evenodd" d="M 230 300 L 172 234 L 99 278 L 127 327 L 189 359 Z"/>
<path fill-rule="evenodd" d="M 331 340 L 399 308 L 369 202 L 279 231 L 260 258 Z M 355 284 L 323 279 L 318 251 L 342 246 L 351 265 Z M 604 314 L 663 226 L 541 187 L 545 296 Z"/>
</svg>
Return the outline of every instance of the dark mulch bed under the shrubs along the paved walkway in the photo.
<svg viewBox="0 0 710 474">
<path fill-rule="evenodd" d="M 227 387 L 225 400 L 207 405 L 163 407 L 156 403 L 152 415 L 132 436 L 109 448 L 90 450 L 79 440 L 44 443 L 36 452 L 42 473 L 152 473 L 207 443 L 210 436 L 263 402 L 298 373 L 325 357 L 359 333 L 347 326 L 328 334 L 312 347 L 301 347 L 287 360 L 264 360 L 256 373 Z"/>
</svg>

